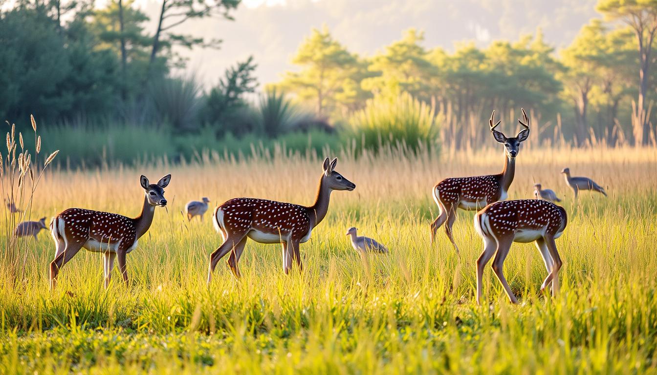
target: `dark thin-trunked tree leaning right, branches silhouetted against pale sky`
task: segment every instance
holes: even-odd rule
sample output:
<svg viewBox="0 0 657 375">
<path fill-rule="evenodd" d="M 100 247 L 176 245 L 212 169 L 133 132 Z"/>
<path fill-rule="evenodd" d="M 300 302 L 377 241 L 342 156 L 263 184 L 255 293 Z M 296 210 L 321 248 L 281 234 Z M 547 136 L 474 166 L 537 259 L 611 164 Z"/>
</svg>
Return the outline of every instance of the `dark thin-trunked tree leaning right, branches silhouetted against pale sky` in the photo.
<svg viewBox="0 0 657 375">
<path fill-rule="evenodd" d="M 206 41 L 203 37 L 183 35 L 171 32 L 176 26 L 193 20 L 212 16 L 221 16 L 233 20 L 230 12 L 237 9 L 240 0 L 162 0 L 157 28 L 152 40 L 148 73 L 152 71 L 158 51 L 163 43 L 181 45 L 187 48 L 194 46 L 218 47 L 221 40 Z M 148 77 L 148 75 L 147 75 Z"/>
</svg>

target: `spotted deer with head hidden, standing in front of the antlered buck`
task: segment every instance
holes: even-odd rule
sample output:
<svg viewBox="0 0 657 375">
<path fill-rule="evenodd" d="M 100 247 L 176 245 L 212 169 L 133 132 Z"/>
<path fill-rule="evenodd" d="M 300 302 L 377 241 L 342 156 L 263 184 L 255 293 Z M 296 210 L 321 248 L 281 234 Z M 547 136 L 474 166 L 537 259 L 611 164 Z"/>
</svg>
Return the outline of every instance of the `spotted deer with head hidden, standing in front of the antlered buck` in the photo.
<svg viewBox="0 0 657 375">
<path fill-rule="evenodd" d="M 541 292 L 551 283 L 555 296 L 559 291 L 558 273 L 563 265 L 556 252 L 555 238 L 561 236 L 567 223 L 566 210 L 547 200 L 495 202 L 479 211 L 474 216 L 474 228 L 484 240 L 484 252 L 477 259 L 477 303 L 481 303 L 482 298 L 484 267 L 495 252 L 493 272 L 507 292 L 509 301 L 518 303 L 502 271 L 513 242 L 536 242 L 548 273 L 541 285 Z"/>
</svg>

